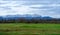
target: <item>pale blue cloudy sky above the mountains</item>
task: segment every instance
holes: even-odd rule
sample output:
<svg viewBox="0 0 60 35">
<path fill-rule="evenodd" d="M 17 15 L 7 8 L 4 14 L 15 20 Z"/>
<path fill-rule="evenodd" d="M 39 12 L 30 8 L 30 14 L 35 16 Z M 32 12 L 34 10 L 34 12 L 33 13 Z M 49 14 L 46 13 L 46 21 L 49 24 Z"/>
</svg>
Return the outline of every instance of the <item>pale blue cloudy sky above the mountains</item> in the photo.
<svg viewBox="0 0 60 35">
<path fill-rule="evenodd" d="M 0 16 L 17 14 L 60 18 L 60 0 L 0 0 Z"/>
</svg>

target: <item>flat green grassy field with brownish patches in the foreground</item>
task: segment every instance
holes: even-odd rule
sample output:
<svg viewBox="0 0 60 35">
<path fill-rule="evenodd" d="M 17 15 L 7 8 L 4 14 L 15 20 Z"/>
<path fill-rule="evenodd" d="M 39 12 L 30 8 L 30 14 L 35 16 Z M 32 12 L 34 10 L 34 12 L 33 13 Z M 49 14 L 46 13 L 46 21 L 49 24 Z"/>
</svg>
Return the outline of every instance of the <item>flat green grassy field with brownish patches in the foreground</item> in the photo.
<svg viewBox="0 0 60 35">
<path fill-rule="evenodd" d="M 0 24 L 0 35 L 60 35 L 60 24 Z"/>
</svg>

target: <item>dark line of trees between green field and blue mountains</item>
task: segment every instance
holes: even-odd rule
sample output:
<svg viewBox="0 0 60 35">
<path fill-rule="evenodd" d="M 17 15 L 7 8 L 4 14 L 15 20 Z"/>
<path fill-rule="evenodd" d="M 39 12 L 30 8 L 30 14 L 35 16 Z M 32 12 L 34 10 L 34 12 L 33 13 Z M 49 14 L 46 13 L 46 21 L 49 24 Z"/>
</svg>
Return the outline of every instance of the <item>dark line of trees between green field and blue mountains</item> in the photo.
<svg viewBox="0 0 60 35">
<path fill-rule="evenodd" d="M 0 18 L 0 23 L 60 23 L 60 19 L 40 19 L 40 18 L 31 18 L 26 19 L 24 17 L 17 19 L 3 19 Z"/>
</svg>

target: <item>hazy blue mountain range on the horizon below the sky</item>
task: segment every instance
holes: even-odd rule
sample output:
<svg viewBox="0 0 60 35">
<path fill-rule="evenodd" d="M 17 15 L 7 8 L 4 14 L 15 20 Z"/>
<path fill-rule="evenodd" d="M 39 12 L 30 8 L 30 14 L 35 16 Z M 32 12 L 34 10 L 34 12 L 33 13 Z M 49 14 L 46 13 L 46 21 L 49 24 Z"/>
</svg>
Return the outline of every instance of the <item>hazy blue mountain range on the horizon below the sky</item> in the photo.
<svg viewBox="0 0 60 35">
<path fill-rule="evenodd" d="M 6 15 L 6 16 L 0 16 L 0 20 L 3 19 L 18 19 L 24 17 L 25 19 L 31 19 L 31 18 L 35 18 L 35 19 L 52 19 L 52 17 L 49 16 L 41 16 L 41 15 L 29 15 L 29 14 L 25 14 L 25 15 Z"/>
</svg>

